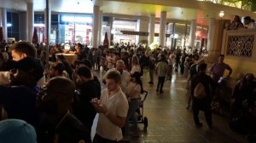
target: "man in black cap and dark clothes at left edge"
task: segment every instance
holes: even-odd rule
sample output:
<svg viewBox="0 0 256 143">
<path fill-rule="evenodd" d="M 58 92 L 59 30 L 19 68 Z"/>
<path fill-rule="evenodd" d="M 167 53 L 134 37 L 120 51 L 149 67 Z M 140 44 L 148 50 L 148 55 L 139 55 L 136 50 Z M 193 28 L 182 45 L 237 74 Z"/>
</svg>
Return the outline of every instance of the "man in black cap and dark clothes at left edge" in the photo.
<svg viewBox="0 0 256 143">
<path fill-rule="evenodd" d="M 37 81 L 43 77 L 43 66 L 31 57 L 16 61 L 14 66 L 10 72 L 10 86 L 0 85 L 0 105 L 3 105 L 8 118 L 25 120 L 37 128 Z"/>
</svg>

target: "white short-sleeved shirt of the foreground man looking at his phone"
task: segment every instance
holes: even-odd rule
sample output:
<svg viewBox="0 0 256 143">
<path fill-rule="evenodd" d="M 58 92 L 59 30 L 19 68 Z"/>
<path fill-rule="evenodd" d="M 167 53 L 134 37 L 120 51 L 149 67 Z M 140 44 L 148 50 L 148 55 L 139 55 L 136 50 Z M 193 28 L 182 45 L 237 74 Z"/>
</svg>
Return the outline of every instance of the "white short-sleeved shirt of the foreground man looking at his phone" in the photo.
<svg viewBox="0 0 256 143">
<path fill-rule="evenodd" d="M 108 89 L 103 89 L 101 104 L 107 106 L 108 111 L 114 116 L 126 117 L 129 109 L 128 101 L 121 89 L 111 98 L 108 98 Z M 122 140 L 122 130 L 113 124 L 106 115 L 100 113 L 96 128 L 96 134 L 108 140 Z"/>
</svg>

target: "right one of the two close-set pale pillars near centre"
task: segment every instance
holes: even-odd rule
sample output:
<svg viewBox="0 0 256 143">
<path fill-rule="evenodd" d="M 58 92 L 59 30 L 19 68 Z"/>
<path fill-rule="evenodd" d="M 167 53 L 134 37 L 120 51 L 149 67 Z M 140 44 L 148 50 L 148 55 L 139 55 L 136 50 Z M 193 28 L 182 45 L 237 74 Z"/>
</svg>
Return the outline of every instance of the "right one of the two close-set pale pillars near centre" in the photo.
<svg viewBox="0 0 256 143">
<path fill-rule="evenodd" d="M 164 47 L 165 41 L 166 41 L 166 11 L 162 11 L 160 15 L 159 45 Z"/>
</svg>

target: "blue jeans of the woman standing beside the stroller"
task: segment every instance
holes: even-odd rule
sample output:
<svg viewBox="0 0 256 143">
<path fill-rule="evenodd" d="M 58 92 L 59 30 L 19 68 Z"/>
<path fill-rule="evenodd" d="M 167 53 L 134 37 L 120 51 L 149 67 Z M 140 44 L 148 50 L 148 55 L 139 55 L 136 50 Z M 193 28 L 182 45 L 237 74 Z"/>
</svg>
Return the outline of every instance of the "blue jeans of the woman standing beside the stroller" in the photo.
<svg viewBox="0 0 256 143">
<path fill-rule="evenodd" d="M 126 121 L 125 121 L 125 134 L 124 136 L 128 136 L 130 129 L 129 129 L 129 120 L 133 123 L 133 127 L 137 129 L 137 116 L 136 110 L 141 105 L 141 100 L 131 100 L 129 101 L 129 110 L 127 113 Z"/>
</svg>

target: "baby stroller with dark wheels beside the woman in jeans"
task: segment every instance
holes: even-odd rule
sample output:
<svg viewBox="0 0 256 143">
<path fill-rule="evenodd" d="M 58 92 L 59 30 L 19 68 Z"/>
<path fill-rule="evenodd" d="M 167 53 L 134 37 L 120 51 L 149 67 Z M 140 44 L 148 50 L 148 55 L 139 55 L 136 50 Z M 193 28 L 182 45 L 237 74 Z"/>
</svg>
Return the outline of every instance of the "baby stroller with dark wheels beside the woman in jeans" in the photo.
<svg viewBox="0 0 256 143">
<path fill-rule="evenodd" d="M 148 91 L 144 90 L 143 94 L 141 94 L 141 105 L 137 108 L 137 123 L 143 123 L 144 129 L 148 128 L 148 117 L 143 117 L 143 104 L 147 99 Z"/>
</svg>

